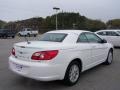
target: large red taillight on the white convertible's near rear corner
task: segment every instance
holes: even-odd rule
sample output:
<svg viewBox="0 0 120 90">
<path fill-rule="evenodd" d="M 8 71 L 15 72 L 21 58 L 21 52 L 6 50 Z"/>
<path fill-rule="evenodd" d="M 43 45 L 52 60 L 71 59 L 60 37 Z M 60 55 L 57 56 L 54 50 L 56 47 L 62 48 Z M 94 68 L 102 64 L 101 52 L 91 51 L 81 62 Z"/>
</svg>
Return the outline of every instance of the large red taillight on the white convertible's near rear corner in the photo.
<svg viewBox="0 0 120 90">
<path fill-rule="evenodd" d="M 58 54 L 58 50 L 51 50 L 51 51 L 40 51 L 35 52 L 31 59 L 32 60 L 51 60 L 56 57 Z"/>
</svg>

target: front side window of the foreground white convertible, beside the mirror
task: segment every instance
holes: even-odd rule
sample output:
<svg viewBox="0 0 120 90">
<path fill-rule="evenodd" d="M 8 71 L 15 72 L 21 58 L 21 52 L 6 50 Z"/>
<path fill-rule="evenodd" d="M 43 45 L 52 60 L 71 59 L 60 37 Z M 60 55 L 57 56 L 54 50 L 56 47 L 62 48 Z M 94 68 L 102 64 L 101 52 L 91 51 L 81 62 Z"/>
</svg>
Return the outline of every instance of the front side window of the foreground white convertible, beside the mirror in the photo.
<svg viewBox="0 0 120 90">
<path fill-rule="evenodd" d="M 99 38 L 97 35 L 95 35 L 94 33 L 85 33 L 87 39 L 89 42 L 92 43 L 98 43 L 101 42 L 101 38 Z"/>
</svg>

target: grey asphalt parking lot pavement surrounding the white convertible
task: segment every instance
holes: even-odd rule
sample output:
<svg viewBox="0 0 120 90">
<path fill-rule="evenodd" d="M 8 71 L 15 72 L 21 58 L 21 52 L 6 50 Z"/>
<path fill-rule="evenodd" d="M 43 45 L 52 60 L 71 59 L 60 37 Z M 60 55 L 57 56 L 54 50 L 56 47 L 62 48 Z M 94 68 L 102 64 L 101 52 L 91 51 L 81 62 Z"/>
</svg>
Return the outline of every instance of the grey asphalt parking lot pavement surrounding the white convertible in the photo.
<svg viewBox="0 0 120 90">
<path fill-rule="evenodd" d="M 24 38 L 0 39 L 0 90 L 120 90 L 120 48 L 115 48 L 111 65 L 101 64 L 83 72 L 79 82 L 68 87 L 61 81 L 41 82 L 10 71 L 8 57 L 12 45 L 20 41 L 24 41 Z"/>
</svg>

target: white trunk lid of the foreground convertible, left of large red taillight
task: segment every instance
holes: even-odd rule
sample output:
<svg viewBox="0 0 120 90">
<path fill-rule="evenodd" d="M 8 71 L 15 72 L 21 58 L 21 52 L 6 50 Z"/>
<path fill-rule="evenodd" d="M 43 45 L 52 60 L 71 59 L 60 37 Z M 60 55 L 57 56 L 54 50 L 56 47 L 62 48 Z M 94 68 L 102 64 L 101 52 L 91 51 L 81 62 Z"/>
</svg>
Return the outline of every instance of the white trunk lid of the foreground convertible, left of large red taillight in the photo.
<svg viewBox="0 0 120 90">
<path fill-rule="evenodd" d="M 16 58 L 24 61 L 32 61 L 31 56 L 33 53 L 45 50 L 58 50 L 61 47 L 61 43 L 58 42 L 44 42 L 44 41 L 31 41 L 20 42 L 14 45 Z"/>
</svg>

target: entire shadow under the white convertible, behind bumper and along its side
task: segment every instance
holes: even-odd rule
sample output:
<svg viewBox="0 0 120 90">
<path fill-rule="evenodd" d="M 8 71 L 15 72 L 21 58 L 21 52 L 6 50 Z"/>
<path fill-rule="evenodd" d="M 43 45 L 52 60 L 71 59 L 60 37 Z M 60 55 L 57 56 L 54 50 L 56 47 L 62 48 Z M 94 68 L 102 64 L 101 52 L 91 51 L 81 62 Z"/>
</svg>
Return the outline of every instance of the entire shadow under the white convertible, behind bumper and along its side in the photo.
<svg viewBox="0 0 120 90">
<path fill-rule="evenodd" d="M 73 87 L 81 85 L 81 83 L 85 82 L 88 77 L 91 78 L 91 77 L 94 77 L 99 72 L 101 73 L 101 70 L 104 70 L 104 68 L 106 67 L 107 66 L 100 64 L 96 66 L 95 68 L 89 69 L 81 73 L 80 80 Z M 41 82 L 41 81 L 37 81 L 37 80 L 33 80 L 33 79 L 21 77 L 21 76 L 16 78 L 16 83 L 17 85 L 20 85 L 20 87 L 25 87 L 26 90 L 33 90 L 33 89 L 34 90 L 44 90 L 44 89 L 61 90 L 61 89 L 65 89 L 66 87 L 68 89 L 68 86 L 65 86 L 62 81 Z"/>
</svg>

